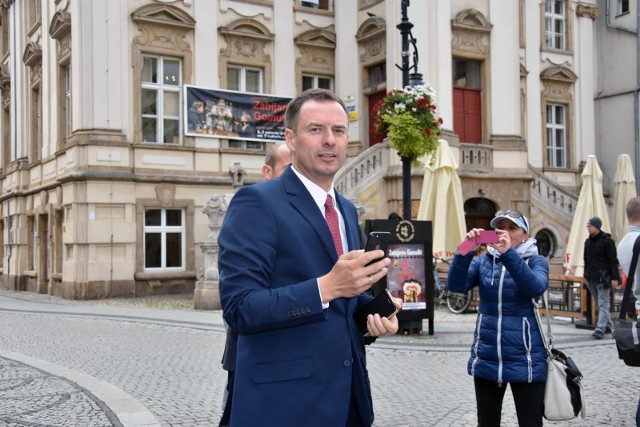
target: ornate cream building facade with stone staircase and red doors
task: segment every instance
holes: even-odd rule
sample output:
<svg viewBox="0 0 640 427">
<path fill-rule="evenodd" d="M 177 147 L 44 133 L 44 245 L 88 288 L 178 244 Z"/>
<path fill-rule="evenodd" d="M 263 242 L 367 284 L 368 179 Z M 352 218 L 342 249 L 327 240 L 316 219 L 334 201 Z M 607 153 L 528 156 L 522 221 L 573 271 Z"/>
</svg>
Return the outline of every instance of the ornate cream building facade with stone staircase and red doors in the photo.
<svg viewBox="0 0 640 427">
<path fill-rule="evenodd" d="M 402 1 L 337 3 L 0 0 L 2 286 L 80 299 L 193 290 L 203 206 L 260 181 L 273 142 L 186 132 L 189 85 L 335 91 L 352 112 L 338 189 L 365 219 L 399 211 L 400 160 L 371 115 L 402 86 Z M 411 2 L 418 71 L 459 158 L 467 226 L 519 209 L 545 253 L 562 257 L 581 163 L 599 147 L 601 8 Z"/>
</svg>

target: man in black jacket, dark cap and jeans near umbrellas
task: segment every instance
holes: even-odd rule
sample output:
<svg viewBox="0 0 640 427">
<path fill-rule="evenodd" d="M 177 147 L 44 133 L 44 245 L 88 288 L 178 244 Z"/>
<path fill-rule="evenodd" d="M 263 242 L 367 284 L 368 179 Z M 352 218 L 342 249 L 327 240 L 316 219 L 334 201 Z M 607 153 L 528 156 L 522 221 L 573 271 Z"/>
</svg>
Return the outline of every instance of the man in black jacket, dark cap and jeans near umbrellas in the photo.
<svg viewBox="0 0 640 427">
<path fill-rule="evenodd" d="M 611 286 L 618 286 L 620 282 L 616 244 L 601 228 L 602 220 L 597 216 L 587 221 L 589 237 L 584 241 L 584 278 L 598 303 L 598 323 L 592 335 L 596 339 L 604 338 L 604 334 L 613 330 L 609 312 Z"/>
</svg>

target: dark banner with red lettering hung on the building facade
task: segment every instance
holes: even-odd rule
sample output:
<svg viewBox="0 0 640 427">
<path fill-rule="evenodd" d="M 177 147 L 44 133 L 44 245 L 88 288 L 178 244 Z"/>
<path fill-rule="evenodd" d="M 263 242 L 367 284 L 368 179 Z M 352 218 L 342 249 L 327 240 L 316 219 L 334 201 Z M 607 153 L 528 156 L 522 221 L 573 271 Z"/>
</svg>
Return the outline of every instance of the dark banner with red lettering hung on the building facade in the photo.
<svg viewBox="0 0 640 427">
<path fill-rule="evenodd" d="M 185 135 L 284 141 L 291 98 L 185 85 Z"/>
</svg>

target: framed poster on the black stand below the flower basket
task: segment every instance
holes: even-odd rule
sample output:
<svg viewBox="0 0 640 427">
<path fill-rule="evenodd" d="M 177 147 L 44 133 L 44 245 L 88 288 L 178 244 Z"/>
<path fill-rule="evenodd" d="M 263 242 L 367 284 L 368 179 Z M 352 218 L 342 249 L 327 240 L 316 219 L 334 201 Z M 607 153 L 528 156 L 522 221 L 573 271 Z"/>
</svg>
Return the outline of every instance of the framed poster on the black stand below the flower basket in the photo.
<svg viewBox="0 0 640 427">
<path fill-rule="evenodd" d="M 389 245 L 389 258 L 387 287 L 391 294 L 402 299 L 403 310 L 426 309 L 424 244 Z"/>
</svg>

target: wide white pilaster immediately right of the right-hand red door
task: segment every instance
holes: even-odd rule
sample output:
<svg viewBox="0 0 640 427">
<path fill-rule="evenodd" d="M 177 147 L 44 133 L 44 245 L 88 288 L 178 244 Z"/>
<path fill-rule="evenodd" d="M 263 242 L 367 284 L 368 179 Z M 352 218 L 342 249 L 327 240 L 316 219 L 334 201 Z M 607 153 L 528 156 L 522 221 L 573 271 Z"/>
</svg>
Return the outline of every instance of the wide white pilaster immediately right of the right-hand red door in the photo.
<svg viewBox="0 0 640 427">
<path fill-rule="evenodd" d="M 518 2 L 490 0 L 491 132 L 520 135 Z"/>
</svg>

